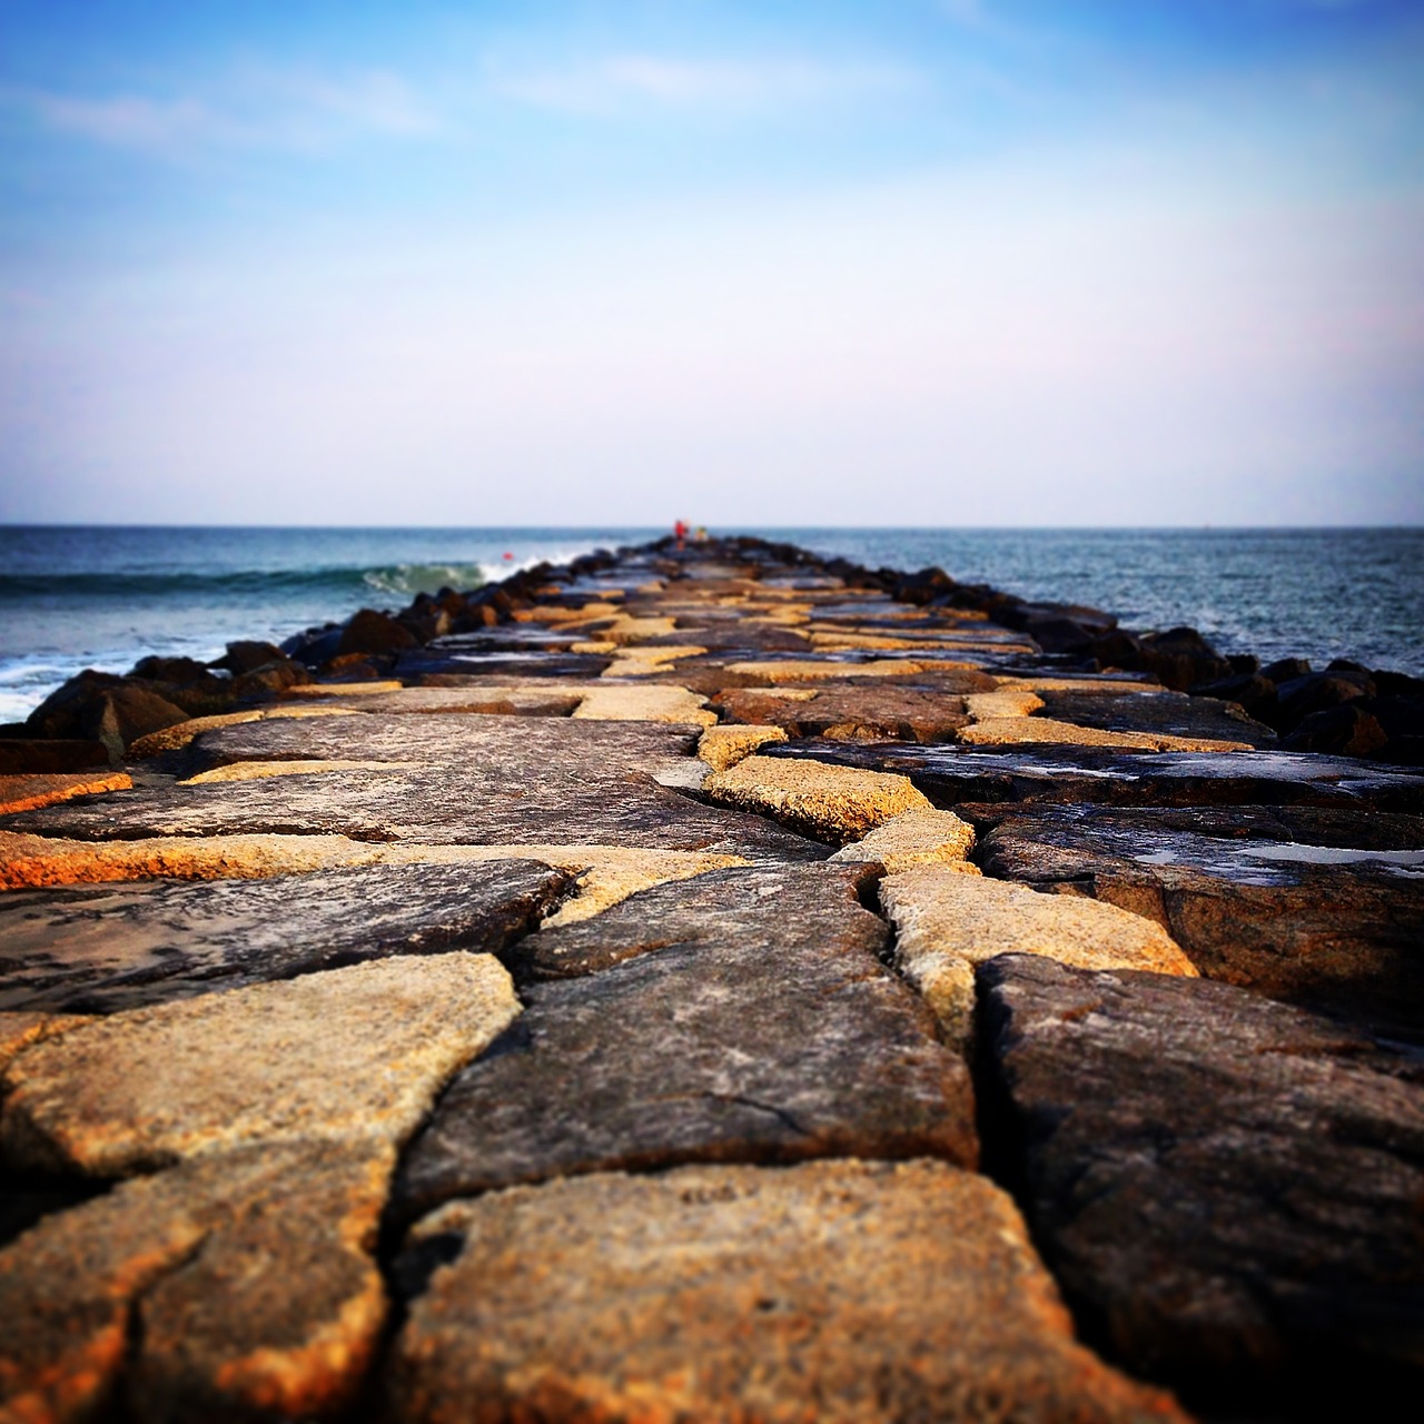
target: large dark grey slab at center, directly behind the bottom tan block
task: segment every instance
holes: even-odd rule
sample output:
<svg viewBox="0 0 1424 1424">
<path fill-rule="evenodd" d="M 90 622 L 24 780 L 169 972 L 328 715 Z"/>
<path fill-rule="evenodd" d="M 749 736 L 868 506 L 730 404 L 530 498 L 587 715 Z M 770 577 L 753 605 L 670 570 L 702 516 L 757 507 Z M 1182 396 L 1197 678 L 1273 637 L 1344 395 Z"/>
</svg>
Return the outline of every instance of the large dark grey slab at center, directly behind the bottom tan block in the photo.
<svg viewBox="0 0 1424 1424">
<path fill-rule="evenodd" d="M 971 1163 L 967 1069 L 877 960 L 886 930 L 857 880 L 715 870 L 524 941 L 524 1015 L 451 1082 L 403 1161 L 396 1212 L 678 1162 Z M 584 977 L 530 981 L 550 973 Z"/>
</svg>

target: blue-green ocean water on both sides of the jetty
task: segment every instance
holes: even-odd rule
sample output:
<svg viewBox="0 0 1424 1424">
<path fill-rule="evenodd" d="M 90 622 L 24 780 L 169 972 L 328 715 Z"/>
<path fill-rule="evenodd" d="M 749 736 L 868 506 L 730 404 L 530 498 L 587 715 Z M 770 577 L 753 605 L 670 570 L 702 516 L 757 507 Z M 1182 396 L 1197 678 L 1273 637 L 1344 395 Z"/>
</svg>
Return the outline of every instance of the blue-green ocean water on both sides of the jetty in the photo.
<svg viewBox="0 0 1424 1424">
<path fill-rule="evenodd" d="M 0 527 L 0 722 L 81 668 L 215 658 L 357 608 L 402 608 L 648 528 Z M 716 531 L 723 533 L 723 531 Z M 1199 628 L 1262 661 L 1354 658 L 1424 676 L 1424 530 L 749 528 L 820 554 L 1089 604 L 1128 628 Z"/>
</svg>

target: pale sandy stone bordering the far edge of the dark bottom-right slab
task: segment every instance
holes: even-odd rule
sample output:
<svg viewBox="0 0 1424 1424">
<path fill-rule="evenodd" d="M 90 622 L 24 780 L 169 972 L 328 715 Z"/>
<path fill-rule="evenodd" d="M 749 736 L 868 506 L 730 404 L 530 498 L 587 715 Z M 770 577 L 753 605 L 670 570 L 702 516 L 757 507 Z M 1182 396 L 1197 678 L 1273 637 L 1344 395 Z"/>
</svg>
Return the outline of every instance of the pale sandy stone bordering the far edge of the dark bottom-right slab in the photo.
<svg viewBox="0 0 1424 1424">
<path fill-rule="evenodd" d="M 1072 968 L 1196 975 L 1162 926 L 1098 900 L 920 866 L 881 880 L 880 904 L 904 960 L 934 951 L 983 964 L 997 954 L 1042 954 Z"/>
</svg>

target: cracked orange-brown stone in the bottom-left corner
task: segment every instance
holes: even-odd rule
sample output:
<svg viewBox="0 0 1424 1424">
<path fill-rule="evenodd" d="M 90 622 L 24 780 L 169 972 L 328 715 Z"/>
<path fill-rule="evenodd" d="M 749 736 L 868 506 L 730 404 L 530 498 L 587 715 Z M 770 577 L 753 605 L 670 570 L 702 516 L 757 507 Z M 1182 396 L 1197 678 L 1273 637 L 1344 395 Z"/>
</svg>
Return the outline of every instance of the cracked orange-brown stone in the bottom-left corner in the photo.
<svg viewBox="0 0 1424 1424">
<path fill-rule="evenodd" d="M 0 1253 L 0 1418 L 312 1417 L 350 1403 L 386 1317 L 372 1260 L 393 1151 L 221 1153 L 44 1218 Z"/>
</svg>

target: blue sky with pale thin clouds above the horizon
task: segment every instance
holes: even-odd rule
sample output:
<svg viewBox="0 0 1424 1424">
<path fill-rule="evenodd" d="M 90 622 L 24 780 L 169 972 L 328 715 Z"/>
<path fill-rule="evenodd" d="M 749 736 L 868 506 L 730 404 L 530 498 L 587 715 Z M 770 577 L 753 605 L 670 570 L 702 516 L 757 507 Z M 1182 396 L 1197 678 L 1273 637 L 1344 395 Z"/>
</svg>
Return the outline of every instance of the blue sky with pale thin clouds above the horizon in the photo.
<svg viewBox="0 0 1424 1424">
<path fill-rule="evenodd" d="M 0 518 L 1424 523 L 1424 9 L 0 0 Z"/>
</svg>

